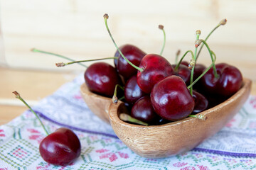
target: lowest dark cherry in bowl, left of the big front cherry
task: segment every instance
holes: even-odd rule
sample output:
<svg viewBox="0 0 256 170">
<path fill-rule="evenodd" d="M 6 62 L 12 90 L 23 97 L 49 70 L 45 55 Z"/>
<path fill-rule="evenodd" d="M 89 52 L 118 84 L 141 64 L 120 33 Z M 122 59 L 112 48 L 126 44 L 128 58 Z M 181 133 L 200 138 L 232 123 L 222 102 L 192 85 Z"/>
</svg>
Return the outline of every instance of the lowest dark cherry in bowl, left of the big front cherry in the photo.
<svg viewBox="0 0 256 170">
<path fill-rule="evenodd" d="M 159 120 L 159 115 L 155 113 L 149 96 L 143 96 L 142 98 L 139 98 L 136 103 L 134 103 L 134 106 L 132 106 L 131 116 L 132 118 L 136 118 L 149 124 Z"/>
</svg>

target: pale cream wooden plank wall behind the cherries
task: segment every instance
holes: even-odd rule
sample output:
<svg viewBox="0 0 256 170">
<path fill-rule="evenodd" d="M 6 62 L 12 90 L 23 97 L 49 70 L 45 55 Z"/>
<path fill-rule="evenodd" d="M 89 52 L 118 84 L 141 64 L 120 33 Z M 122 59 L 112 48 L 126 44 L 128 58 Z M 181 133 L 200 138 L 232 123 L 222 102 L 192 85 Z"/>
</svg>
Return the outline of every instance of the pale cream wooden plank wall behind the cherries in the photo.
<svg viewBox="0 0 256 170">
<path fill-rule="evenodd" d="M 233 64 L 245 77 L 256 80 L 253 0 L 0 0 L 4 37 L 0 63 L 25 69 L 83 70 L 78 65 L 56 68 L 54 63 L 64 60 L 30 52 L 33 47 L 75 60 L 111 57 L 115 48 L 105 29 L 104 13 L 110 16 L 108 23 L 117 45 L 131 43 L 148 53 L 160 52 L 163 34 L 158 25 L 163 24 L 167 40 L 164 57 L 170 62 L 174 62 L 178 49 L 194 50 L 196 30 L 200 29 L 201 38 L 205 38 L 227 18 L 226 26 L 216 30 L 208 43 L 217 62 Z M 210 63 L 206 49 L 199 62 Z"/>
</svg>

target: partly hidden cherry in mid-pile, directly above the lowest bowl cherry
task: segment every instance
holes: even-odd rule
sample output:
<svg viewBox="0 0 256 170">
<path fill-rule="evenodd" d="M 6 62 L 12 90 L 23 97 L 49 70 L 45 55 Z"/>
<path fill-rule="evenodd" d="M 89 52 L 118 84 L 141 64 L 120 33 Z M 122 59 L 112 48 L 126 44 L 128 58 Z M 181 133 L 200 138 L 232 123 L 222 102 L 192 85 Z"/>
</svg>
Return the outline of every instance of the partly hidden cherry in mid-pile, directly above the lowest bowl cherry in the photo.
<svg viewBox="0 0 256 170">
<path fill-rule="evenodd" d="M 146 94 L 139 88 L 137 84 L 137 76 L 132 76 L 124 86 L 124 98 L 127 103 L 134 104 L 139 98 Z"/>
</svg>

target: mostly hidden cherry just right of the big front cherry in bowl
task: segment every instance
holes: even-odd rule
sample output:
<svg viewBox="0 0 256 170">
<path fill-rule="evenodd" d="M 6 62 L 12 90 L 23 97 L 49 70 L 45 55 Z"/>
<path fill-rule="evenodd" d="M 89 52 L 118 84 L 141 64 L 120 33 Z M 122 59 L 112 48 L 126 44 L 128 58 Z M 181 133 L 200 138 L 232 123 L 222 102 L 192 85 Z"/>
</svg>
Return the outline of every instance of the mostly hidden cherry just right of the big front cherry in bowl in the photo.
<svg viewBox="0 0 256 170">
<path fill-rule="evenodd" d="M 208 100 L 203 94 L 193 91 L 193 99 L 195 101 L 195 107 L 193 108 L 192 114 L 200 113 L 208 108 Z"/>
</svg>

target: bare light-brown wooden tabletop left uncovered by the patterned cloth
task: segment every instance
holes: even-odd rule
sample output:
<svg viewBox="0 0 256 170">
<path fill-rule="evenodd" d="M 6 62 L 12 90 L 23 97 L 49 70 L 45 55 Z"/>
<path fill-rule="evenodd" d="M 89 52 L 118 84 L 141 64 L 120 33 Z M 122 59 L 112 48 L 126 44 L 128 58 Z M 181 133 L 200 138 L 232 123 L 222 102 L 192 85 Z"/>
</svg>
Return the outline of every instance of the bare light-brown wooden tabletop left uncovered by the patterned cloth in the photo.
<svg viewBox="0 0 256 170">
<path fill-rule="evenodd" d="M 28 109 L 14 97 L 12 91 L 18 91 L 27 103 L 33 106 L 78 74 L 78 72 L 46 72 L 0 67 L 0 125 L 8 123 Z M 252 83 L 251 94 L 256 95 L 256 81 Z"/>
</svg>

